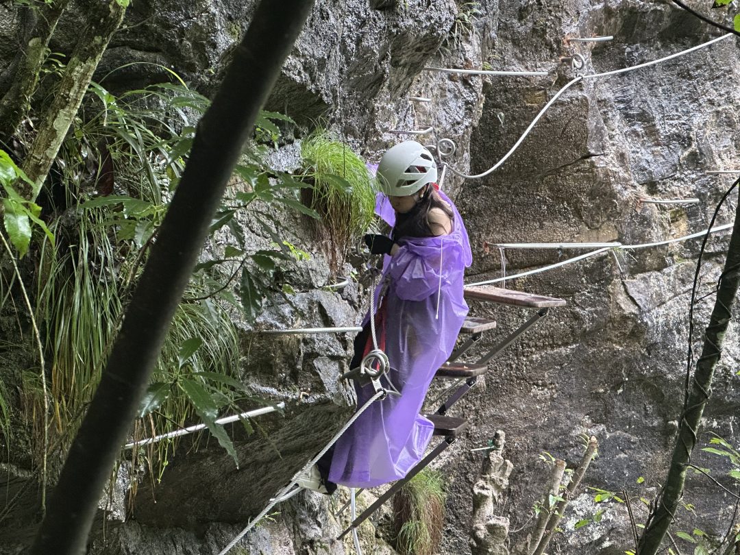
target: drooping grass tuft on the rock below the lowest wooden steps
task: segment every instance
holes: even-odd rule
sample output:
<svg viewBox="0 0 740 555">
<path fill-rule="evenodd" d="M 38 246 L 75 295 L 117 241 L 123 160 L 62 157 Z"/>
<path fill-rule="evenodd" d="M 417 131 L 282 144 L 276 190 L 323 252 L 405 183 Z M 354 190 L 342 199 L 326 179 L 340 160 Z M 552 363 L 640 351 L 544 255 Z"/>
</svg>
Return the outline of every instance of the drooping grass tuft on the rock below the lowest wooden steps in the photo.
<svg viewBox="0 0 740 555">
<path fill-rule="evenodd" d="M 442 539 L 445 492 L 442 474 L 425 468 L 393 499 L 396 547 L 401 555 L 432 555 Z"/>
</svg>

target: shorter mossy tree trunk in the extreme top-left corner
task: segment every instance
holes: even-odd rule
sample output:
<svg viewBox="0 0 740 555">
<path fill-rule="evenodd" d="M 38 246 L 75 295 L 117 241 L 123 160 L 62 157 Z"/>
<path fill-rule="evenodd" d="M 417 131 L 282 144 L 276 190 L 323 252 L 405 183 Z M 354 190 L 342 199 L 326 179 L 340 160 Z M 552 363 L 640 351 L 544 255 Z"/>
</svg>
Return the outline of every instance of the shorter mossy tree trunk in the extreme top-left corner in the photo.
<svg viewBox="0 0 740 555">
<path fill-rule="evenodd" d="M 56 0 L 39 8 L 41 12 L 30 34 L 26 47 L 20 53 L 10 88 L 0 101 L 0 145 L 7 144 L 16 132 L 33 91 L 38 84 L 38 73 L 47 55 L 49 39 L 54 34 L 61 13 L 70 0 Z"/>
</svg>

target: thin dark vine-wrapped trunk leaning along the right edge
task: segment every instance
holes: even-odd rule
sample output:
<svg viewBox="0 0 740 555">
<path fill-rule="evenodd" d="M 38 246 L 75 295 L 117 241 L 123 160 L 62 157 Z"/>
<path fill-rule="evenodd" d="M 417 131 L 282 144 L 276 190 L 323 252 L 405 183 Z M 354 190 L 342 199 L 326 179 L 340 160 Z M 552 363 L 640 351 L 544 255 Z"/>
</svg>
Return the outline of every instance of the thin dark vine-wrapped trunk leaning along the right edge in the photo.
<svg viewBox="0 0 740 555">
<path fill-rule="evenodd" d="M 684 409 L 684 416 L 679 429 L 676 447 L 670 460 L 668 476 L 665 479 L 662 496 L 658 508 L 652 515 L 645 533 L 642 534 L 638 555 L 655 555 L 670 526 L 673 515 L 681 504 L 686 480 L 686 465 L 690 462 L 691 453 L 696 445 L 699 433 L 699 422 L 702 420 L 704 406 L 709 400 L 712 388 L 714 369 L 721 355 L 724 332 L 730 323 L 731 311 L 740 283 L 740 204 L 735 215 L 733 235 L 727 247 L 727 260 L 724 262 L 717 289 L 717 298 L 714 303 L 712 317 L 704 334 L 702 356 L 696 361 L 693 386 Z"/>
</svg>

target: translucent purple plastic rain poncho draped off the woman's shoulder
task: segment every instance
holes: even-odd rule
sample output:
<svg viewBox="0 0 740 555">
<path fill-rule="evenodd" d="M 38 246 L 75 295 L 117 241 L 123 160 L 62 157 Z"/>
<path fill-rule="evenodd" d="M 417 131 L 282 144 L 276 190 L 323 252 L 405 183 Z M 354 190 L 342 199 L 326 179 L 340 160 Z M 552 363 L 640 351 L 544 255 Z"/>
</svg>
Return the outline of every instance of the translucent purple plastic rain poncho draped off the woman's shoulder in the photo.
<svg viewBox="0 0 740 555">
<path fill-rule="evenodd" d="M 388 395 L 372 403 L 337 441 L 329 480 L 349 488 L 373 488 L 405 477 L 424 456 L 434 431 L 434 425 L 419 411 L 468 314 L 462 277 L 472 261 L 460 212 L 441 191 L 440 196 L 454 212 L 452 232 L 398 240 L 400 248 L 394 257 L 386 255 L 383 278 L 375 288 L 377 306 L 380 289 L 390 276 L 383 300 L 386 354 L 391 363 L 388 377 L 402 395 Z M 378 195 L 375 211 L 394 225 L 396 215 L 385 195 Z M 369 314 L 363 326 L 368 322 Z M 377 333 L 380 343 L 380 329 Z M 370 385 L 355 385 L 355 391 L 358 408 L 374 394 Z"/>
</svg>

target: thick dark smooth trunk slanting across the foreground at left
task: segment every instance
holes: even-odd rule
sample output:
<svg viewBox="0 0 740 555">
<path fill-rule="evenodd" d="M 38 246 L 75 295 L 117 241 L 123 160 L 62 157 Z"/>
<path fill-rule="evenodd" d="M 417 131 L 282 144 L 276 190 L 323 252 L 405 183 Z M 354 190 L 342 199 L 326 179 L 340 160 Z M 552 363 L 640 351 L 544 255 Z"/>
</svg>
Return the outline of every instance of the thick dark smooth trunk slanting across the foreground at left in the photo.
<svg viewBox="0 0 740 555">
<path fill-rule="evenodd" d="M 260 107 L 280 75 L 313 0 L 263 0 L 221 89 L 198 124 L 189 160 L 134 292 L 90 408 L 70 448 L 32 555 L 80 555 Z"/>
</svg>

